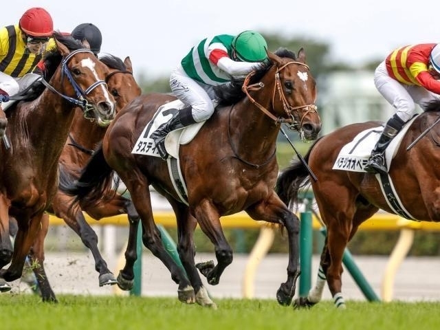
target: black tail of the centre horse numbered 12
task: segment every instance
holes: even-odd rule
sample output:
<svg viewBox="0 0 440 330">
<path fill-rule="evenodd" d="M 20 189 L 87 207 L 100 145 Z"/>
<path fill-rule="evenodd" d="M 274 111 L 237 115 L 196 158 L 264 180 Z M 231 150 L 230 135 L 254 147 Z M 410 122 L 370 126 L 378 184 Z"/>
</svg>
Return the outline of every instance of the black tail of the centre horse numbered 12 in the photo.
<svg viewBox="0 0 440 330">
<path fill-rule="evenodd" d="M 108 192 L 113 184 L 113 173 L 113 169 L 104 158 L 102 145 L 100 145 L 83 168 L 80 177 L 72 181 L 61 176 L 58 188 L 66 195 L 75 197 L 71 207 L 78 203 L 83 208 L 94 206 L 102 201 L 103 196 L 112 197 Z M 104 193 L 106 191 L 107 194 Z"/>
</svg>

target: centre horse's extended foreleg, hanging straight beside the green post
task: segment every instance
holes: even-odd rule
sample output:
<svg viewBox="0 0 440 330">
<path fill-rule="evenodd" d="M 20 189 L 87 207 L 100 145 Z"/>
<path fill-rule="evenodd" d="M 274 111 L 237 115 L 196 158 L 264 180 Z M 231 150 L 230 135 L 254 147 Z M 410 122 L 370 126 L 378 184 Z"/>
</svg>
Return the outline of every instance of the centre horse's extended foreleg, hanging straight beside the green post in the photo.
<svg viewBox="0 0 440 330">
<path fill-rule="evenodd" d="M 287 265 L 287 281 L 281 283 L 276 292 L 278 303 L 288 306 L 294 298 L 296 279 L 300 276 L 299 263 L 299 227 L 298 217 L 289 211 L 287 206 L 279 199 L 274 192 L 270 197 L 259 204 L 246 210 L 252 219 L 265 220 L 271 223 L 280 223 L 287 230 L 289 241 L 289 263 Z"/>
</svg>

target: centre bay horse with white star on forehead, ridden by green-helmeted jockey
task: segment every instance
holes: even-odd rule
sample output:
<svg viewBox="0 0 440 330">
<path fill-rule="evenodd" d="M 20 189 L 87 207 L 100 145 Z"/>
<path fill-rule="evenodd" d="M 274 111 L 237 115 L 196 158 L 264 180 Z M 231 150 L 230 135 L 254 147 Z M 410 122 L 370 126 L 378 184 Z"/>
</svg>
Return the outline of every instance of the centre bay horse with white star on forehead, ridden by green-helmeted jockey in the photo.
<svg viewBox="0 0 440 330">
<path fill-rule="evenodd" d="M 102 195 L 102 186 L 118 173 L 128 188 L 142 221 L 142 241 L 168 267 L 179 284 L 179 300 L 215 307 L 195 266 L 192 234 L 197 223 L 214 244 L 217 265 L 202 264 L 208 283 L 217 285 L 232 263 L 232 249 L 225 239 L 220 217 L 245 210 L 255 220 L 284 225 L 289 236 L 287 281 L 278 289 L 281 305 L 292 303 L 298 266 L 298 218 L 274 192 L 278 175 L 276 137 L 282 122 L 289 122 L 305 140 L 318 135 L 321 122 L 314 104 L 316 83 L 298 56 L 285 49 L 275 54 L 244 80 L 232 80 L 217 91 L 219 107 L 188 144 L 179 148 L 180 170 L 188 200 L 180 199 L 160 157 L 131 153 L 137 137 L 162 104 L 174 96 L 149 94 L 135 98 L 109 126 L 102 146 L 75 185 L 63 187 L 76 198 L 91 203 Z M 177 219 L 177 250 L 188 280 L 164 250 L 153 220 L 148 186 L 170 202 Z M 197 219 L 197 220 L 196 220 Z"/>
</svg>

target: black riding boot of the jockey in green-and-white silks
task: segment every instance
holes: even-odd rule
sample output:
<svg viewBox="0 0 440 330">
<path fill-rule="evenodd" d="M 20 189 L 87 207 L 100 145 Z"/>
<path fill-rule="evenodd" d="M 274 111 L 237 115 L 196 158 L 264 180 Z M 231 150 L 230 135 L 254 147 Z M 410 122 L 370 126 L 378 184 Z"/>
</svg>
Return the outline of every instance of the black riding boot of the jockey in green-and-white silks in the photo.
<svg viewBox="0 0 440 330">
<path fill-rule="evenodd" d="M 191 107 L 186 107 L 180 109 L 168 122 L 160 125 L 150 137 L 154 140 L 156 144 L 157 151 L 159 151 L 160 157 L 162 159 L 168 158 L 168 153 L 165 149 L 165 137 L 174 131 L 175 129 L 181 129 L 183 127 L 189 126 L 190 124 L 195 124 L 194 118 L 192 118 Z"/>
</svg>

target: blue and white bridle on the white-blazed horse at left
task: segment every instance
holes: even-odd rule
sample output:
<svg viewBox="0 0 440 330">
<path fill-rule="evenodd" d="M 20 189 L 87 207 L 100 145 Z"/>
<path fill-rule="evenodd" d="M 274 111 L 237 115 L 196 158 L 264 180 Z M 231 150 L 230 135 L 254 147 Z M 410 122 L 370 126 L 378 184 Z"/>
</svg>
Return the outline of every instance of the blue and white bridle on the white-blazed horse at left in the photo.
<svg viewBox="0 0 440 330">
<path fill-rule="evenodd" d="M 67 63 L 69 63 L 69 60 L 74 55 L 76 55 L 78 53 L 90 53 L 90 54 L 94 55 L 94 53 L 91 52 L 91 50 L 87 50 L 87 49 L 74 50 L 73 52 L 69 53 L 65 58 L 63 58 L 63 61 L 61 63 L 61 70 L 62 70 L 61 71 L 61 82 L 63 82 L 64 76 L 67 76 L 67 79 L 71 83 L 72 87 L 74 87 L 76 98 L 71 98 L 70 96 L 65 96 L 64 94 L 61 94 L 54 87 L 52 87 L 52 85 L 50 85 L 50 83 L 47 83 L 47 81 L 44 79 L 41 79 L 41 82 L 43 83 L 43 85 L 45 85 L 45 87 L 47 87 L 48 89 L 53 91 L 55 94 L 58 94 L 59 96 L 61 96 L 65 100 L 77 105 L 78 107 L 81 107 L 83 109 L 84 117 L 86 119 L 94 120 L 94 116 L 90 115 L 91 111 L 93 111 L 93 109 L 94 109 L 94 106 L 89 104 L 89 102 L 87 102 L 86 97 L 91 91 L 93 91 L 99 85 L 105 85 L 105 87 L 107 88 L 107 83 L 104 80 L 97 80 L 95 83 L 91 84 L 85 90 L 83 90 L 78 85 L 78 83 L 76 83 L 76 81 L 74 80 L 74 77 L 72 77 L 72 73 L 70 72 L 69 67 L 67 67 Z"/>
</svg>

